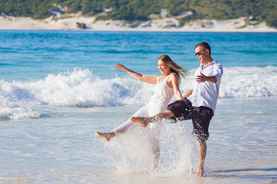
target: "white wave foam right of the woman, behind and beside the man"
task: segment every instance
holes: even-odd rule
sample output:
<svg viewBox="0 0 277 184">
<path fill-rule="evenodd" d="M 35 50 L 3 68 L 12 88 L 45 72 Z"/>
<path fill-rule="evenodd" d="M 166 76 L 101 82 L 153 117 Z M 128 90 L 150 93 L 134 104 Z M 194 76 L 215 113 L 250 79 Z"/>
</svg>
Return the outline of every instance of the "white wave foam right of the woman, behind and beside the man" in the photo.
<svg viewBox="0 0 277 184">
<path fill-rule="evenodd" d="M 191 70 L 194 73 L 195 70 Z M 185 92 L 191 85 L 193 75 L 183 82 L 180 90 Z M 219 98 L 248 98 L 277 96 L 277 67 L 223 67 Z"/>
</svg>

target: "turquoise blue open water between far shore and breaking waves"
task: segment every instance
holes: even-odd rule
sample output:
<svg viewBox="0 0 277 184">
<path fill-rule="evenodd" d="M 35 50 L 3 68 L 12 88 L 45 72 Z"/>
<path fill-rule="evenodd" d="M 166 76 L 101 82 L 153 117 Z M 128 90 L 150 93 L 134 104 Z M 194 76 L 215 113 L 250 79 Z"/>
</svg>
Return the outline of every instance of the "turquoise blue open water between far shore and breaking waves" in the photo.
<svg viewBox="0 0 277 184">
<path fill-rule="evenodd" d="M 156 61 L 167 54 L 187 69 L 197 68 L 194 46 L 205 40 L 224 67 L 276 66 L 276 33 L 140 33 L 0 31 L 1 74 L 7 81 L 43 79 L 48 73 L 90 69 L 102 79 L 125 75 L 124 63 L 158 75 Z"/>
</svg>

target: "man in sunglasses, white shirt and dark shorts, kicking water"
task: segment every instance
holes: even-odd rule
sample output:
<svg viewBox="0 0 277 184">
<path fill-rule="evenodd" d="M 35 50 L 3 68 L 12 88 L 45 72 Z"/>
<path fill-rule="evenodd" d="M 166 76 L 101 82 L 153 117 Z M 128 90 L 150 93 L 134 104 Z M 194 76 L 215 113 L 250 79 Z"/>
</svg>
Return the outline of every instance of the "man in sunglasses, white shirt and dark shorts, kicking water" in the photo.
<svg viewBox="0 0 277 184">
<path fill-rule="evenodd" d="M 199 165 L 196 176 L 201 177 L 204 174 L 204 160 L 207 151 L 205 141 L 209 137 L 209 124 L 215 113 L 223 68 L 221 64 L 211 58 L 211 47 L 206 42 L 195 46 L 195 56 L 200 62 L 200 67 L 195 72 L 190 89 L 182 99 L 169 104 L 165 111 L 153 117 L 131 117 L 131 120 L 146 127 L 148 123 L 161 121 L 161 119 L 191 119 L 192 135 L 198 143 Z"/>
</svg>

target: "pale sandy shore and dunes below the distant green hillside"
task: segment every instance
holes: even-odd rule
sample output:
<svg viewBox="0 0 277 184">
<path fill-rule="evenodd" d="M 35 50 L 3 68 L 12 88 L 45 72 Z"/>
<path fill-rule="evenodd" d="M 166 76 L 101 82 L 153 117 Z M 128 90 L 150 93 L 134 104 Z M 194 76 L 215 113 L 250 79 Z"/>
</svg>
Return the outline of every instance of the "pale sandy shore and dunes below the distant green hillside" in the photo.
<svg viewBox="0 0 277 184">
<path fill-rule="evenodd" d="M 186 15 L 183 15 L 186 16 Z M 95 21 L 96 17 L 83 17 L 80 13 L 64 17 L 34 20 L 30 17 L 0 16 L 2 30 L 87 30 L 87 31 L 153 31 L 153 32 L 265 32 L 276 33 L 265 22 L 247 22 L 246 17 L 230 20 L 193 20 L 180 25 L 179 18 L 153 18 L 149 21 Z M 78 23 L 86 28 L 79 28 Z"/>
</svg>

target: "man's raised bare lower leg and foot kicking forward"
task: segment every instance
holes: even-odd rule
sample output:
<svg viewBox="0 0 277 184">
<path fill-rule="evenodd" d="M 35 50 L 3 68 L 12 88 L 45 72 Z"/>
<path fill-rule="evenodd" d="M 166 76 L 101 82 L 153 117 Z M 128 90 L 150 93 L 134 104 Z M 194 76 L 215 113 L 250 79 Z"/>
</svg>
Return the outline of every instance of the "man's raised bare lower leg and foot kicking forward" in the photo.
<svg viewBox="0 0 277 184">
<path fill-rule="evenodd" d="M 134 123 L 140 124 L 142 127 L 147 127 L 148 123 L 155 123 L 158 121 L 162 121 L 162 119 L 169 119 L 173 116 L 174 114 L 171 111 L 165 110 L 152 117 L 131 117 L 130 119 Z"/>
</svg>

